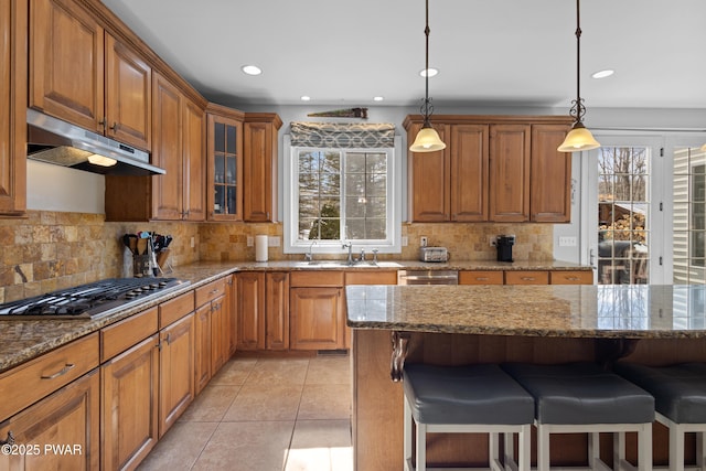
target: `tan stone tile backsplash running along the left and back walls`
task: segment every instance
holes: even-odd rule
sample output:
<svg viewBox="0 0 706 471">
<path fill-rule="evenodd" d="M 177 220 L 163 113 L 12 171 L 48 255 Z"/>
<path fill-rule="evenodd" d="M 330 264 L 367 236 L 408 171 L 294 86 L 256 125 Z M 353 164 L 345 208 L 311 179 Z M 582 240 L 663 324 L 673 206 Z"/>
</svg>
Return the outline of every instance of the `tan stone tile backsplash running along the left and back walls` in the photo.
<svg viewBox="0 0 706 471">
<path fill-rule="evenodd" d="M 255 247 L 248 236 L 278 236 L 282 225 L 245 223 L 107 223 L 103 214 L 29 211 L 21 220 L 0 220 L 0 302 L 28 298 L 83 282 L 126 275 L 122 235 L 139 231 L 171 235 L 169 263 L 254 260 Z M 515 234 L 513 256 L 517 260 L 550 260 L 550 224 L 408 224 L 402 235 L 408 245 L 402 254 L 381 255 L 381 259 L 416 259 L 419 238 L 429 245 L 446 246 L 451 260 L 493 260 L 490 237 Z M 193 247 L 192 247 L 193 239 Z M 344 253 L 321 258 L 343 258 Z M 285 254 L 269 247 L 270 260 L 299 260 L 300 254 Z"/>
</svg>

